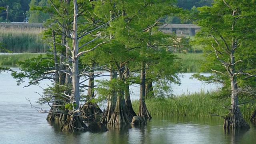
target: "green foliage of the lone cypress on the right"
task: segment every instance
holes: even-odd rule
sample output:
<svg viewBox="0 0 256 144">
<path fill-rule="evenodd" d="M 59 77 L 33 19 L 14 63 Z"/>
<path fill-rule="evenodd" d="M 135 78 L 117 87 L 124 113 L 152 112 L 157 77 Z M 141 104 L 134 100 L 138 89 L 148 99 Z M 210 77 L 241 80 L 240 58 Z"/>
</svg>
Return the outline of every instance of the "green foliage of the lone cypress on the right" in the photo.
<svg viewBox="0 0 256 144">
<path fill-rule="evenodd" d="M 239 89 L 255 88 L 256 37 L 254 9 L 251 0 L 216 0 L 212 7 L 198 8 L 195 22 L 201 26 L 194 44 L 204 47 L 206 57 L 200 72 L 214 73 L 210 77 L 194 75 L 207 83 L 220 82 L 230 96 L 230 79 L 236 78 Z M 234 58 L 234 61 L 231 60 Z M 240 96 L 251 95 L 241 94 Z"/>
</svg>

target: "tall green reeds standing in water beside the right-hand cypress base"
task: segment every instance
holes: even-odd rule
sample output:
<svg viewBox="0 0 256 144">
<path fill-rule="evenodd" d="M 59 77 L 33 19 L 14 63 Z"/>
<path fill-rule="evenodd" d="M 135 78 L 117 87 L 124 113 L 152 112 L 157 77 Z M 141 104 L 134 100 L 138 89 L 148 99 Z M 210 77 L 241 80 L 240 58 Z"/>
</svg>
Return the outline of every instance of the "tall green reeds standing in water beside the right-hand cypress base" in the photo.
<svg viewBox="0 0 256 144">
<path fill-rule="evenodd" d="M 217 100 L 212 98 L 212 96 L 218 94 L 219 92 L 198 92 L 174 98 L 155 98 L 146 100 L 146 106 L 150 114 L 156 116 L 206 117 L 209 116 L 208 112 L 226 116 L 229 111 L 224 106 L 230 107 L 230 99 Z M 255 105 L 248 109 L 250 104 L 240 106 L 240 110 L 247 120 L 256 109 Z M 136 113 L 138 112 L 138 106 L 138 100 L 132 102 L 132 107 Z"/>
</svg>

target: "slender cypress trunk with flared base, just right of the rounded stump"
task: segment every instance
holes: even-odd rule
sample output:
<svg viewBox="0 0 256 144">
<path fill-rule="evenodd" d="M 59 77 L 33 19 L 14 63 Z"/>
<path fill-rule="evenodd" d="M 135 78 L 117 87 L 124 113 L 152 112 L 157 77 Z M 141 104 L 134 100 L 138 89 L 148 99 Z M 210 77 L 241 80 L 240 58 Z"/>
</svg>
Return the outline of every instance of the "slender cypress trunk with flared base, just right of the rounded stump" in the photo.
<svg viewBox="0 0 256 144">
<path fill-rule="evenodd" d="M 149 118 L 151 119 L 151 115 L 148 112 L 148 109 L 146 107 L 146 103 L 145 103 L 145 72 L 146 72 L 146 68 L 145 68 L 145 63 L 142 61 L 141 62 L 141 72 L 140 72 L 140 100 L 139 100 L 139 112 L 138 112 L 138 116 L 144 116 L 146 119 Z"/>
</svg>

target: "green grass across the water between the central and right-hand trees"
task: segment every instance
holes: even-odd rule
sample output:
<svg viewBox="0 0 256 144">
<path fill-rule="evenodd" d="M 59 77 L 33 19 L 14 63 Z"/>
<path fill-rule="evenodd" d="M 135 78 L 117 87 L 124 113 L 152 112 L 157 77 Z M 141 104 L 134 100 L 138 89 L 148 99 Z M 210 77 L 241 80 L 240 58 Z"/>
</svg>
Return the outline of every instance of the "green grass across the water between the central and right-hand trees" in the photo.
<svg viewBox="0 0 256 144">
<path fill-rule="evenodd" d="M 200 61 L 204 60 L 202 53 L 176 53 L 182 64 L 182 72 L 199 72 Z"/>
</svg>

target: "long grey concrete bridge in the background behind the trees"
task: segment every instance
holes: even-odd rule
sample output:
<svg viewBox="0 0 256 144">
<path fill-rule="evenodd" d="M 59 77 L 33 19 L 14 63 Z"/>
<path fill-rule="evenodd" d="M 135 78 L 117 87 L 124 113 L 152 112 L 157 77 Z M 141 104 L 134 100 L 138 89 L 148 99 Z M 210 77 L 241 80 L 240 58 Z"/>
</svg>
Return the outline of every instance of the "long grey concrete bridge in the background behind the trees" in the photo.
<svg viewBox="0 0 256 144">
<path fill-rule="evenodd" d="M 37 27 L 37 28 L 43 28 L 43 23 L 25 23 L 25 22 L 0 22 L 0 27 Z M 160 27 L 160 30 L 162 30 L 165 33 L 175 33 L 177 34 L 177 30 L 189 30 L 189 35 L 194 36 L 195 31 L 197 29 L 200 29 L 200 26 L 196 26 L 194 24 L 167 24 Z M 181 31 L 182 34 L 182 31 Z"/>
</svg>

